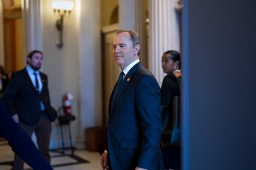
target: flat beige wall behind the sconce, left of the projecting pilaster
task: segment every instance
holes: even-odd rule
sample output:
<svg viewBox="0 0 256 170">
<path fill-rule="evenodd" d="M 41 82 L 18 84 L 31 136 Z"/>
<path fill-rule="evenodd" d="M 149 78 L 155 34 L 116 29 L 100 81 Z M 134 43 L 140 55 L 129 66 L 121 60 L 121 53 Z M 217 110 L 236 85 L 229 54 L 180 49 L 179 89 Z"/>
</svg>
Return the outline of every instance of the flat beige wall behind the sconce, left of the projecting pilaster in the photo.
<svg viewBox="0 0 256 170">
<path fill-rule="evenodd" d="M 55 41 L 59 38 L 59 31 L 55 27 L 56 17 L 53 14 L 51 0 L 44 0 L 42 4 L 42 30 L 43 30 L 43 72 L 48 75 L 51 104 L 56 110 L 62 106 L 62 95 L 66 91 L 74 95 L 72 113 L 78 117 L 79 109 L 79 55 L 78 55 L 78 28 L 75 9 L 69 17 L 64 18 L 62 49 L 58 49 Z M 77 119 L 71 123 L 73 137 L 77 136 Z M 58 146 L 59 126 L 54 123 L 51 135 L 51 147 Z"/>
</svg>

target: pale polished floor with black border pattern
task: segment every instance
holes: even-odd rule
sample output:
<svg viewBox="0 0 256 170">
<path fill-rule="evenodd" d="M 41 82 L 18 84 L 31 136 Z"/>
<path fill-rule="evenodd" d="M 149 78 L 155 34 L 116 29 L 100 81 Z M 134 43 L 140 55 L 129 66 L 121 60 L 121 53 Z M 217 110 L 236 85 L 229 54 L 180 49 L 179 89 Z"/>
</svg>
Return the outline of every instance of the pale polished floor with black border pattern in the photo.
<svg viewBox="0 0 256 170">
<path fill-rule="evenodd" d="M 12 169 L 14 153 L 7 144 L 0 145 L 0 170 Z M 51 151 L 51 165 L 54 170 L 80 170 L 80 169 L 101 169 L 100 153 L 88 152 L 87 150 L 75 150 L 74 155 L 68 151 L 66 155 L 58 151 Z M 25 164 L 24 169 L 31 169 Z"/>
</svg>

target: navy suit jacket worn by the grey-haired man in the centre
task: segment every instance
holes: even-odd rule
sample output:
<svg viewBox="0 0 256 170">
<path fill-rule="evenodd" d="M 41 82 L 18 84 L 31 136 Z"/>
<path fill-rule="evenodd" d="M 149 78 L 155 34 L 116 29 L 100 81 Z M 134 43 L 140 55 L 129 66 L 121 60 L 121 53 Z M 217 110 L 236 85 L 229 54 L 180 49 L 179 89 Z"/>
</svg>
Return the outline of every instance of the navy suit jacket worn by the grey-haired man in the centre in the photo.
<svg viewBox="0 0 256 170">
<path fill-rule="evenodd" d="M 111 169 L 163 169 L 160 87 L 137 63 L 109 100 L 108 161 Z"/>
</svg>

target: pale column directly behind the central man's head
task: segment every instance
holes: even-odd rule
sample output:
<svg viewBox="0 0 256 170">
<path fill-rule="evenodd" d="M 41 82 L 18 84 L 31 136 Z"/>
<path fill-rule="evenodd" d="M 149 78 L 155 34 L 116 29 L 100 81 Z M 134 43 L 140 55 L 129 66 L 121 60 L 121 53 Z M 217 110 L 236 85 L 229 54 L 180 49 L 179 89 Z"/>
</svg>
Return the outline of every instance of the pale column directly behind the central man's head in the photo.
<svg viewBox="0 0 256 170">
<path fill-rule="evenodd" d="M 140 34 L 140 61 L 147 67 L 145 0 L 119 0 L 119 29 Z"/>
</svg>

